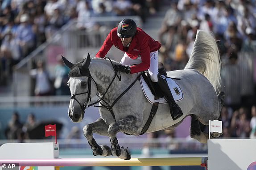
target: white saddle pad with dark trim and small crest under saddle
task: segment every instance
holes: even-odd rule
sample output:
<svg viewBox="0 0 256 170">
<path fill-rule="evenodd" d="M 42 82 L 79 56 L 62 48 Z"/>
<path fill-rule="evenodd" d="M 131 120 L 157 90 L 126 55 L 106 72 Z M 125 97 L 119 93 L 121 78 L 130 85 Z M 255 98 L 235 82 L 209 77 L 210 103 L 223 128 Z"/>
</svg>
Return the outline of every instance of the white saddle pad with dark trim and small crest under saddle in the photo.
<svg viewBox="0 0 256 170">
<path fill-rule="evenodd" d="M 173 95 L 173 99 L 175 101 L 179 101 L 182 100 L 183 98 L 183 93 L 181 88 L 178 86 L 178 84 L 171 78 L 166 78 L 168 86 L 172 92 Z M 160 98 L 159 100 L 155 100 L 155 96 L 152 94 L 148 84 L 145 82 L 145 80 L 143 79 L 142 76 L 140 76 L 140 85 L 142 88 L 142 91 L 145 95 L 145 97 L 149 100 L 150 103 L 155 103 L 155 102 L 159 102 L 159 103 L 167 103 L 167 101 L 165 100 L 165 98 Z"/>
</svg>

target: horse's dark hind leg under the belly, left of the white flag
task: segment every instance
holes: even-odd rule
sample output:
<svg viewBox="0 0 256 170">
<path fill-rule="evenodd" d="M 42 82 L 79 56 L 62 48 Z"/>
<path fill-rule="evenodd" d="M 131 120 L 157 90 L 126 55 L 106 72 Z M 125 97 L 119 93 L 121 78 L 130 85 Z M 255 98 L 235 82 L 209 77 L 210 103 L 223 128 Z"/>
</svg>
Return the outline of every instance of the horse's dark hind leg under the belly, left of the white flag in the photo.
<svg viewBox="0 0 256 170">
<path fill-rule="evenodd" d="M 191 115 L 190 137 L 198 140 L 201 143 L 207 143 L 208 134 L 202 132 L 199 120 L 196 115 Z"/>
</svg>

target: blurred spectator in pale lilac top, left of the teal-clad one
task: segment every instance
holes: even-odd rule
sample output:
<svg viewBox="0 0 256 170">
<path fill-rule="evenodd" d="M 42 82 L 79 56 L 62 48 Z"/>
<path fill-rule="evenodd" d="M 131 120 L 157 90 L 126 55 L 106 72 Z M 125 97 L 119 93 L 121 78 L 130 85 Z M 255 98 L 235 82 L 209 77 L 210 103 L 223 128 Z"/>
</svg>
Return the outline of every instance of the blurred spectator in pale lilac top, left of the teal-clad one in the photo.
<svg viewBox="0 0 256 170">
<path fill-rule="evenodd" d="M 37 61 L 37 68 L 30 71 L 30 75 L 35 78 L 35 95 L 43 96 L 51 94 L 51 81 L 48 71 L 45 70 L 41 60 Z"/>
</svg>

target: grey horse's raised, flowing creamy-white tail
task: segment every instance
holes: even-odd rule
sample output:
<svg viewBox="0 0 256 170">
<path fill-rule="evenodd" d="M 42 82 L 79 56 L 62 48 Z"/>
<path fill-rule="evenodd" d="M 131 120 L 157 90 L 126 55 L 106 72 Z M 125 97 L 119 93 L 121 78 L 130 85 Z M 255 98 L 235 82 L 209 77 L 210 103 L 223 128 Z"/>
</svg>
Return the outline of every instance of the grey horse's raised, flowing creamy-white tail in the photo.
<svg viewBox="0 0 256 170">
<path fill-rule="evenodd" d="M 219 93 L 221 60 L 219 49 L 213 36 L 209 32 L 198 30 L 192 54 L 185 69 L 195 69 L 204 75 Z"/>
</svg>

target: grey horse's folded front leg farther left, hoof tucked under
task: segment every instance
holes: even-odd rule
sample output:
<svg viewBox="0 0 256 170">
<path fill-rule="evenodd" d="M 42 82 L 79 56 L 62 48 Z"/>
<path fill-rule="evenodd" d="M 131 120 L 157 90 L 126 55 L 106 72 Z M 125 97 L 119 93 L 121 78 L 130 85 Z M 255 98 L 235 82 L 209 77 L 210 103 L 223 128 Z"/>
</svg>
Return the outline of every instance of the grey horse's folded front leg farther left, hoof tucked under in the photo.
<svg viewBox="0 0 256 170">
<path fill-rule="evenodd" d="M 83 135 L 87 138 L 94 156 L 109 156 L 111 154 L 110 147 L 107 145 L 99 146 L 92 135 L 93 133 L 96 133 L 99 135 L 108 136 L 107 129 L 108 125 L 101 118 L 83 127 Z"/>
</svg>

